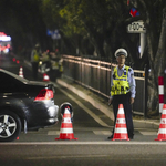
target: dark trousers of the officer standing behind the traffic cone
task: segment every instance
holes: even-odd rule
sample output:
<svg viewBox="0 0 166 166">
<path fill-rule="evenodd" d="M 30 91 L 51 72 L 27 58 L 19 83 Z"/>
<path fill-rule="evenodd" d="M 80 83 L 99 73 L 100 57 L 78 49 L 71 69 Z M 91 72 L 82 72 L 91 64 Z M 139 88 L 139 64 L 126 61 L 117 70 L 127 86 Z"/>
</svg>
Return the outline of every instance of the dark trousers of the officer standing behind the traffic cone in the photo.
<svg viewBox="0 0 166 166">
<path fill-rule="evenodd" d="M 133 137 L 134 126 L 133 126 L 133 118 L 132 118 L 132 105 L 131 105 L 129 92 L 127 94 L 113 96 L 113 110 L 114 110 L 114 117 L 115 117 L 114 126 L 116 124 L 116 117 L 117 117 L 117 111 L 118 111 L 120 104 L 123 104 L 123 107 L 124 107 L 128 137 Z M 113 128 L 113 133 L 114 133 L 114 128 Z"/>
</svg>

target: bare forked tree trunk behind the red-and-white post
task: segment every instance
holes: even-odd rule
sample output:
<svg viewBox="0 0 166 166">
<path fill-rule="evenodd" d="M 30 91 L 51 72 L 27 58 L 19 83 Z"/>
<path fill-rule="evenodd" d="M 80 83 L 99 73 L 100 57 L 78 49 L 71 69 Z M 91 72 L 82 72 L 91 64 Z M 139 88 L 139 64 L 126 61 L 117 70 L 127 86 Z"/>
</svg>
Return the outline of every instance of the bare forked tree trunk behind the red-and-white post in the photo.
<svg viewBox="0 0 166 166">
<path fill-rule="evenodd" d="M 148 46 L 151 44 L 151 39 L 148 38 Z M 151 65 L 151 76 L 149 76 L 149 91 L 148 91 L 148 108 L 158 110 L 158 76 L 164 76 L 164 62 L 165 62 L 165 45 L 166 45 L 166 8 L 163 10 L 163 22 L 158 43 L 158 50 L 155 59 L 153 54 L 149 55 Z M 149 46 L 149 52 L 153 53 L 153 49 Z M 155 62 L 155 63 L 154 63 Z"/>
</svg>

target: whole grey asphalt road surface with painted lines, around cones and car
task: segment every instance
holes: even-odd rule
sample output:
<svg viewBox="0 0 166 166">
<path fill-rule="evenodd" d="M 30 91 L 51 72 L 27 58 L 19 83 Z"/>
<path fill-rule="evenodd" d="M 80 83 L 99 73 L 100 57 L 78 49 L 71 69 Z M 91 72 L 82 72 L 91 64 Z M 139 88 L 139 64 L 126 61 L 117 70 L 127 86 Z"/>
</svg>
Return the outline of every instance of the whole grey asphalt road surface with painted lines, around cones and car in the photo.
<svg viewBox="0 0 166 166">
<path fill-rule="evenodd" d="M 24 77 L 32 80 L 32 73 L 23 63 L 0 59 L 0 66 L 19 74 L 23 66 Z M 39 81 L 42 81 L 40 75 Z M 107 141 L 113 121 L 89 102 L 80 98 L 68 89 L 55 84 L 55 104 L 72 104 L 74 110 L 73 135 L 77 141 L 56 141 L 59 124 L 21 133 L 12 143 L 0 143 L 0 166 L 163 166 L 166 162 L 166 143 L 156 142 L 157 129 L 135 128 L 133 141 Z"/>
</svg>

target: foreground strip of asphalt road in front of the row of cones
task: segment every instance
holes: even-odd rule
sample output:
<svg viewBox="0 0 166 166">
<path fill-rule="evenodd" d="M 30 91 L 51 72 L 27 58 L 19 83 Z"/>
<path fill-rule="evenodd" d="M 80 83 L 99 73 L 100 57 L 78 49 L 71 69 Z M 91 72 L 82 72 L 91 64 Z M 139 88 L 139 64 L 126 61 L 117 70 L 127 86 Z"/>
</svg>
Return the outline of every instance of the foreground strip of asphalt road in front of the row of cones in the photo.
<svg viewBox="0 0 166 166">
<path fill-rule="evenodd" d="M 165 143 L 65 143 L 7 144 L 0 146 L 0 165 L 164 166 L 166 163 Z"/>
</svg>

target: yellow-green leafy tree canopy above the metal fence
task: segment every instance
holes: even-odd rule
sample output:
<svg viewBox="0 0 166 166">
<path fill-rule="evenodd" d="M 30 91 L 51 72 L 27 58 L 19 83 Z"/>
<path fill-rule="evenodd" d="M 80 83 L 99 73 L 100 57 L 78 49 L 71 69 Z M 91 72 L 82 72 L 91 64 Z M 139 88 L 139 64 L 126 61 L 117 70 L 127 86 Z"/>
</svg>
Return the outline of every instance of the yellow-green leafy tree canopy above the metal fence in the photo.
<svg viewBox="0 0 166 166">
<path fill-rule="evenodd" d="M 135 61 L 137 68 L 144 63 L 146 56 L 135 56 L 138 49 L 133 41 L 137 41 L 138 35 L 126 31 L 132 22 L 126 0 L 43 0 L 43 7 L 46 24 L 56 24 L 62 40 L 68 38 L 82 54 L 89 54 L 87 48 L 92 52 L 93 46 L 100 58 L 114 59 L 115 50 L 122 45 L 129 50 L 129 61 Z"/>
</svg>

